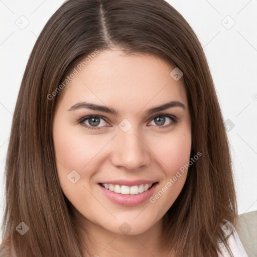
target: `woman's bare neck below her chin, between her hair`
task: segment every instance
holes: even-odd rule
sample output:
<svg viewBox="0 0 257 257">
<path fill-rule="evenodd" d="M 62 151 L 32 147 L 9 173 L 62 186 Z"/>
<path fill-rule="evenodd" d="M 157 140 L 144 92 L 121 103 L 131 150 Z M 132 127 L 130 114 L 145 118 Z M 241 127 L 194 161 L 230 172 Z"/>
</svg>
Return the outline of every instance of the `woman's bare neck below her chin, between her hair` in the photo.
<svg viewBox="0 0 257 257">
<path fill-rule="evenodd" d="M 82 248 L 87 248 L 94 257 L 164 256 L 160 242 L 163 230 L 163 218 L 147 231 L 131 235 L 116 234 L 92 223 L 81 214 L 77 217 L 78 234 Z M 86 251 L 83 255 L 88 256 Z"/>
</svg>

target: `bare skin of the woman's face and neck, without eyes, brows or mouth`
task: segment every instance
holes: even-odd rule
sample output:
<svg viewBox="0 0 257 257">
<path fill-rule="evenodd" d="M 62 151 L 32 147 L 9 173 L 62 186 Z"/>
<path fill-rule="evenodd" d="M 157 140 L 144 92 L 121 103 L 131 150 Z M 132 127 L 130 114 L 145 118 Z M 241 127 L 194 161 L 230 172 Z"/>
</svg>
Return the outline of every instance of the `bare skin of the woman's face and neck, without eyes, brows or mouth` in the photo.
<svg viewBox="0 0 257 257">
<path fill-rule="evenodd" d="M 174 68 L 155 56 L 126 56 L 113 48 L 98 53 L 58 96 L 53 126 L 58 177 L 76 208 L 79 238 L 88 242 L 85 230 L 91 235 L 92 256 L 160 256 L 162 252 L 164 215 L 181 192 L 187 170 L 155 203 L 147 200 L 136 206 L 112 202 L 97 183 L 154 180 L 159 182 L 155 195 L 189 162 L 191 119 L 183 81 L 170 76 Z M 185 109 L 145 114 L 148 108 L 172 100 L 182 102 Z M 115 108 L 120 115 L 87 108 L 69 110 L 79 101 Z M 165 117 L 165 124 L 160 125 L 153 118 L 158 114 L 173 115 L 178 122 Z M 96 124 L 99 130 L 88 130 L 78 122 L 87 115 L 106 119 Z M 132 124 L 127 132 L 118 126 L 123 119 Z M 83 124 L 93 126 L 89 120 Z M 74 184 L 67 179 L 73 170 L 80 175 Z M 127 234 L 119 230 L 123 222 L 131 227 Z"/>
</svg>

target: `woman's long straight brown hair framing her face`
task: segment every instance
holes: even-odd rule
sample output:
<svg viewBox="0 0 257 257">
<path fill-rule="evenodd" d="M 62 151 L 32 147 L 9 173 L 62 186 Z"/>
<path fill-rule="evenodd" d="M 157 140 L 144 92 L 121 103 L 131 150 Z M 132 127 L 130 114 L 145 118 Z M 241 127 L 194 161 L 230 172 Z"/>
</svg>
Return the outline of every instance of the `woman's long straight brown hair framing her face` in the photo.
<svg viewBox="0 0 257 257">
<path fill-rule="evenodd" d="M 217 256 L 218 239 L 227 245 L 220 224 L 223 219 L 234 223 L 237 215 L 228 140 L 201 44 L 164 0 L 70 0 L 45 25 L 14 112 L 3 245 L 13 245 L 18 257 L 82 256 L 73 208 L 56 169 L 56 89 L 81 58 L 110 47 L 158 56 L 183 72 L 192 120 L 191 156 L 202 156 L 190 166 L 183 190 L 167 212 L 162 246 L 167 255 Z M 21 222 L 29 227 L 24 235 L 17 232 Z"/>
</svg>

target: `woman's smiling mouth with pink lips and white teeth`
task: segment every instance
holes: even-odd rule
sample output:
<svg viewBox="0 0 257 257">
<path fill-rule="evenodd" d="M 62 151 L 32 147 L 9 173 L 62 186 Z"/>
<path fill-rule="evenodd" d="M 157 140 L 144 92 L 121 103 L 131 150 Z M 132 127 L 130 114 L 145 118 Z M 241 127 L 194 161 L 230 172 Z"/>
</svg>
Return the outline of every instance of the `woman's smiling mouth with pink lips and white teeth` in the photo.
<svg viewBox="0 0 257 257">
<path fill-rule="evenodd" d="M 155 191 L 159 182 L 127 186 L 122 184 L 98 183 L 104 196 L 113 203 L 134 206 L 146 202 Z"/>
</svg>

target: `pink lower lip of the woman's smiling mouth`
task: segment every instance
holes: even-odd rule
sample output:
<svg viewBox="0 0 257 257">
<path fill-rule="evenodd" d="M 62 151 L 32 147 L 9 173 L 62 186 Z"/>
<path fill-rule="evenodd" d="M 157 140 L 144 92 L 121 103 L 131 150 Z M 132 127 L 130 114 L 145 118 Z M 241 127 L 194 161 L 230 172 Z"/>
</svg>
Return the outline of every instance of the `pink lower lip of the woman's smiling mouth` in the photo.
<svg viewBox="0 0 257 257">
<path fill-rule="evenodd" d="M 123 194 L 115 193 L 114 191 L 110 191 L 98 184 L 102 192 L 110 200 L 112 200 L 114 203 L 125 205 L 125 206 L 133 206 L 133 205 L 137 205 L 145 202 L 151 197 L 157 185 L 158 183 L 155 183 L 150 189 L 148 189 L 143 193 L 139 193 L 137 195 L 123 195 Z"/>
</svg>

